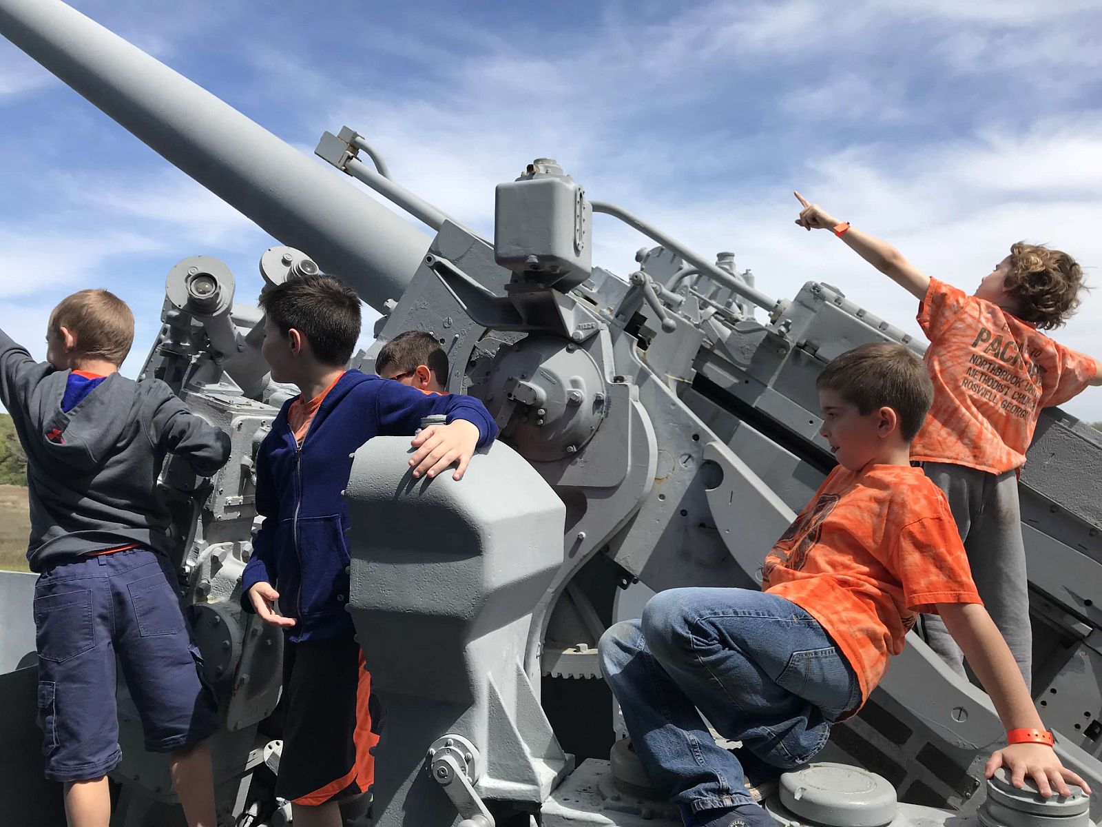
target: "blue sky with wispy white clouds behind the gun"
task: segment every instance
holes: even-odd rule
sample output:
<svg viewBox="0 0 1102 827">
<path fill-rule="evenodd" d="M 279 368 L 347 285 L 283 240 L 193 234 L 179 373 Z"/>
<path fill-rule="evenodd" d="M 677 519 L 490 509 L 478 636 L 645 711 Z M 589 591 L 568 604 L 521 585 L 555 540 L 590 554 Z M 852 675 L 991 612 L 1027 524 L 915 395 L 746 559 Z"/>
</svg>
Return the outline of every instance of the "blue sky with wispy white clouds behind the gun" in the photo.
<svg viewBox="0 0 1102 827">
<path fill-rule="evenodd" d="M 1023 238 L 1102 284 L 1093 1 L 73 4 L 307 154 L 357 129 L 487 235 L 494 185 L 550 155 L 766 293 L 827 281 L 915 333 L 906 293 L 792 224 L 793 187 L 969 291 Z M 0 41 L 0 324 L 35 355 L 57 298 L 107 287 L 139 318 L 132 374 L 173 264 L 223 258 L 247 298 L 271 243 Z M 599 264 L 642 244 L 598 218 Z M 1095 292 L 1057 337 L 1102 357 L 1100 329 Z M 1102 391 L 1067 407 L 1102 420 Z"/>
</svg>

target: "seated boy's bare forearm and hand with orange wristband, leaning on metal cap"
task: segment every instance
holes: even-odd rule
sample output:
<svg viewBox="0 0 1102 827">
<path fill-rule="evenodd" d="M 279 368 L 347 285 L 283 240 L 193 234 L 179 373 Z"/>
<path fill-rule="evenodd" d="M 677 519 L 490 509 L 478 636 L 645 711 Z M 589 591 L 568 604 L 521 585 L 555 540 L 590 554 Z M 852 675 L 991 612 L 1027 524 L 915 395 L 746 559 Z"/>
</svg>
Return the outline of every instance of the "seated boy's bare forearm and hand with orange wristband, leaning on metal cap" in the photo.
<svg viewBox="0 0 1102 827">
<path fill-rule="evenodd" d="M 938 613 L 991 697 L 1007 732 L 1044 730 L 1045 724 L 1037 715 L 1014 655 L 987 610 L 980 603 L 939 603 Z M 1054 791 L 1070 795 L 1069 781 L 1081 786 L 1088 795 L 1091 792 L 1087 782 L 1065 767 L 1056 751 L 1047 744 L 1013 743 L 996 750 L 987 760 L 987 777 L 1000 766 L 1011 771 L 1011 783 L 1016 787 L 1023 785 L 1026 775 L 1031 776 L 1046 798 Z"/>
</svg>

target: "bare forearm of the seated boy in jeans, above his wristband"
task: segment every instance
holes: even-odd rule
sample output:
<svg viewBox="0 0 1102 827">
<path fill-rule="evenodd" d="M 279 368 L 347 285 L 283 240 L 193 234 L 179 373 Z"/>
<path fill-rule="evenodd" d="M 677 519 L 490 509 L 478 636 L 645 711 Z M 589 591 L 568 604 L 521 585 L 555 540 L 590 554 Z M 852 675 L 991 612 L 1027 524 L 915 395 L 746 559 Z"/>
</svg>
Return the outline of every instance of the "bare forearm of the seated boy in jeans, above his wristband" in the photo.
<svg viewBox="0 0 1102 827">
<path fill-rule="evenodd" d="M 979 603 L 941 603 L 941 620 L 991 697 L 1003 726 L 1044 729 L 1018 665 L 987 610 Z"/>
</svg>

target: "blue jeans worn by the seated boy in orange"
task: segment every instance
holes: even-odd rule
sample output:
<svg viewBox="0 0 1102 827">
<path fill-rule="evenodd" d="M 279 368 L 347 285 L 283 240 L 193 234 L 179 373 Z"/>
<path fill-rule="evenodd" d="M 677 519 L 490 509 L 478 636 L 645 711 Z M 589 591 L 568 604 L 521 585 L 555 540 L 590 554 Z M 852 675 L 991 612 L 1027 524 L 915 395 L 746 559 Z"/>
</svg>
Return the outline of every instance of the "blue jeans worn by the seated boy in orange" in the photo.
<svg viewBox="0 0 1102 827">
<path fill-rule="evenodd" d="M 601 665 L 657 791 L 696 813 L 753 801 L 724 738 L 782 770 L 807 763 L 861 688 L 823 627 L 784 598 L 670 589 L 601 638 Z M 696 710 L 700 710 L 699 712 Z"/>
</svg>

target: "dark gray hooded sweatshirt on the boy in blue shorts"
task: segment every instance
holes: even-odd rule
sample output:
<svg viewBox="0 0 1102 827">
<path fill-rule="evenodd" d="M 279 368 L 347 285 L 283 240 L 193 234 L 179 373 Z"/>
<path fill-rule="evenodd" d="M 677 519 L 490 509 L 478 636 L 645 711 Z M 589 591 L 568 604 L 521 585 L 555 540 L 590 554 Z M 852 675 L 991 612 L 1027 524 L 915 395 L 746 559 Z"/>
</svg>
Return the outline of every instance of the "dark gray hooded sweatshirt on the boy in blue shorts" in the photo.
<svg viewBox="0 0 1102 827">
<path fill-rule="evenodd" d="M 165 454 L 210 476 L 229 457 L 229 437 L 160 379 L 111 374 L 65 412 L 68 376 L 0 331 L 0 402 L 26 451 L 31 570 L 131 543 L 168 552 L 171 518 L 156 492 Z"/>
</svg>

